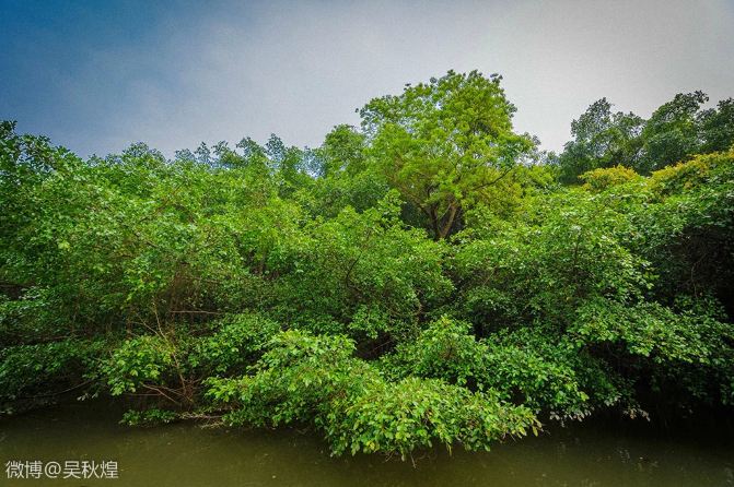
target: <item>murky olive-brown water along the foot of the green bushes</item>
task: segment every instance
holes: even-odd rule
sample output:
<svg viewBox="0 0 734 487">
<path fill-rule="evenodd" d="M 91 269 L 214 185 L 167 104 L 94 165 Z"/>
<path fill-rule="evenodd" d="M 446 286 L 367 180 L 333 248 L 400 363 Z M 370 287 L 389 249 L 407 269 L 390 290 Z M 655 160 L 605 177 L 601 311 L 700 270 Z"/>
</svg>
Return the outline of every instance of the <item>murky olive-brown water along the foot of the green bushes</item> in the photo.
<svg viewBox="0 0 734 487">
<path fill-rule="evenodd" d="M 313 435 L 118 426 L 118 411 L 73 404 L 0 420 L 0 485 L 90 486 L 731 486 L 734 441 L 639 428 L 552 428 L 489 453 L 435 451 L 410 462 L 334 459 Z M 108 461 L 118 479 L 9 480 L 10 460 Z"/>
</svg>

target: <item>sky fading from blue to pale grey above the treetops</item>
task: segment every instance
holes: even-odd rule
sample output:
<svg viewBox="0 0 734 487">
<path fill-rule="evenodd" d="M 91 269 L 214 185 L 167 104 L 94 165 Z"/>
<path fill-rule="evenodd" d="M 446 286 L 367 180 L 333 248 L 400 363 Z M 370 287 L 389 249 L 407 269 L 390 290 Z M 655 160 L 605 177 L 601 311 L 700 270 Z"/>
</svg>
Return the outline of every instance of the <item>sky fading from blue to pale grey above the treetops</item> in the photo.
<svg viewBox="0 0 734 487">
<path fill-rule="evenodd" d="M 478 69 L 558 150 L 602 96 L 641 116 L 734 96 L 732 26 L 732 0 L 0 0 L 0 118 L 84 156 L 272 132 L 315 146 L 371 97 Z"/>
</svg>

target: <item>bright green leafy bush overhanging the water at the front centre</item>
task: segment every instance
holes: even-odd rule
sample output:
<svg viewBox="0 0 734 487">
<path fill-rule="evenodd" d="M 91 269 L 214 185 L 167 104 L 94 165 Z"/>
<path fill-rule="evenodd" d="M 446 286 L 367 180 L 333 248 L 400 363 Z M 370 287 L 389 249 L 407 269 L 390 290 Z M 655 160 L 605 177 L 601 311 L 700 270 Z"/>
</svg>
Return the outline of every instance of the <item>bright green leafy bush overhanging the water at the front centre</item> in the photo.
<svg viewBox="0 0 734 487">
<path fill-rule="evenodd" d="M 489 449 L 539 425 L 524 407 L 441 380 L 388 382 L 340 336 L 288 331 L 277 336 L 253 376 L 210 379 L 208 396 L 234 425 L 312 425 L 335 454 L 398 453 L 455 442 Z"/>
</svg>

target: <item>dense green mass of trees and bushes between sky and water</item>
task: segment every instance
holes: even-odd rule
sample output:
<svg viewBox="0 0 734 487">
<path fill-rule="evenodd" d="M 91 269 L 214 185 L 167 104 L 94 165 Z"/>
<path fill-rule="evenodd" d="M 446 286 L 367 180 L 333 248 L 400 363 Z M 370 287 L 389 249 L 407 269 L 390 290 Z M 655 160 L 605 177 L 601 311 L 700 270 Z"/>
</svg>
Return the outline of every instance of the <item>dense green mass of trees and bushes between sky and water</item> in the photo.
<svg viewBox="0 0 734 487">
<path fill-rule="evenodd" d="M 602 99 L 559 154 L 501 76 L 377 97 L 317 149 L 82 159 L 0 124 L 0 408 L 488 449 L 734 403 L 734 103 Z"/>
</svg>

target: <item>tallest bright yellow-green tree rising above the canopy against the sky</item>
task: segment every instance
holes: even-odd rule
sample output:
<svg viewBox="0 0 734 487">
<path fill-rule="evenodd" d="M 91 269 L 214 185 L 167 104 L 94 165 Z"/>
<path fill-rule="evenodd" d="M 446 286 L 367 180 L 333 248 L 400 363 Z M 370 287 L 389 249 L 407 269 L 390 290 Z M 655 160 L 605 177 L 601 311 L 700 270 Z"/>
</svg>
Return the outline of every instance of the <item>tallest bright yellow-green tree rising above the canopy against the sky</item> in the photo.
<svg viewBox="0 0 734 487">
<path fill-rule="evenodd" d="M 451 235 L 463 212 L 533 147 L 527 135 L 513 132 L 515 107 L 500 80 L 448 71 L 360 110 L 372 161 L 436 239 Z"/>
</svg>

